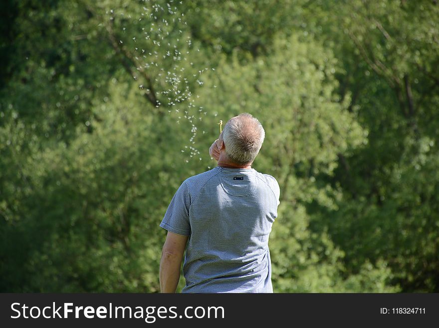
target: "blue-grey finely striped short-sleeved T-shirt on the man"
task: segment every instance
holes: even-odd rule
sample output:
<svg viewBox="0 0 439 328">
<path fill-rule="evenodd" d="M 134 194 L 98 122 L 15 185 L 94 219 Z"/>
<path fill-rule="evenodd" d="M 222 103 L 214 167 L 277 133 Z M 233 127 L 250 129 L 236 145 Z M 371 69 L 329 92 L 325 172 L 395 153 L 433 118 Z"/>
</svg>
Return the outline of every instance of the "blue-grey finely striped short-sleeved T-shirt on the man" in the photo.
<svg viewBox="0 0 439 328">
<path fill-rule="evenodd" d="M 272 293 L 268 237 L 279 185 L 254 169 L 216 167 L 186 179 L 160 226 L 189 236 L 182 293 Z"/>
</svg>

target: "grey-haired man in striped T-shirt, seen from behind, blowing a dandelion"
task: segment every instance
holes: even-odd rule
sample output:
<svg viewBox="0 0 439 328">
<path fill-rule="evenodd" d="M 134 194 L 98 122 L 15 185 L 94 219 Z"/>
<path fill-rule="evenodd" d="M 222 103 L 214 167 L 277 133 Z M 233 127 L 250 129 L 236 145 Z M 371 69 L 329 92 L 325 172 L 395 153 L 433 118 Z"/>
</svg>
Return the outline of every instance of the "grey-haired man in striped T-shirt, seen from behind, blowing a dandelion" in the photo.
<svg viewBox="0 0 439 328">
<path fill-rule="evenodd" d="M 279 185 L 251 168 L 264 137 L 250 114 L 231 118 L 209 149 L 218 166 L 177 190 L 160 224 L 168 231 L 160 261 L 162 293 L 175 293 L 185 250 L 183 293 L 273 292 L 268 237 Z"/>
</svg>

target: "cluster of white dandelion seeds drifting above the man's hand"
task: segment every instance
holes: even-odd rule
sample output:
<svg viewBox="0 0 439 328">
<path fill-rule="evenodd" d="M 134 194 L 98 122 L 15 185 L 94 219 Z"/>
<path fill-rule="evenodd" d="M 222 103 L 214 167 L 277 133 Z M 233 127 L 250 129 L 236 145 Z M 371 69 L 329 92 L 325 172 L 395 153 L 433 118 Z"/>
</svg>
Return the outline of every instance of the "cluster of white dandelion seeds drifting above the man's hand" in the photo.
<svg viewBox="0 0 439 328">
<path fill-rule="evenodd" d="M 191 60 L 194 48 L 184 19 L 185 13 L 179 6 L 183 1 L 144 0 L 143 12 L 133 17 L 124 7 L 111 9 L 109 14 L 125 21 L 122 27 L 120 46 L 133 53 L 138 75 L 133 76 L 139 85 L 139 91 L 157 99 L 157 108 L 166 108 L 169 115 L 175 116 L 176 124 L 189 124 L 191 136 L 189 145 L 182 152 L 189 158 L 202 160 L 196 148 L 197 122 L 202 121 L 208 112 L 198 106 L 193 89 L 202 87 L 202 75 L 208 70 L 203 67 L 196 69 Z M 107 12 L 108 13 L 108 12 Z M 135 34 L 128 35 L 132 25 L 137 27 Z M 166 111 L 165 110 L 165 111 Z M 205 131 L 203 131 L 203 134 Z M 189 159 L 186 159 L 189 162 Z"/>
</svg>

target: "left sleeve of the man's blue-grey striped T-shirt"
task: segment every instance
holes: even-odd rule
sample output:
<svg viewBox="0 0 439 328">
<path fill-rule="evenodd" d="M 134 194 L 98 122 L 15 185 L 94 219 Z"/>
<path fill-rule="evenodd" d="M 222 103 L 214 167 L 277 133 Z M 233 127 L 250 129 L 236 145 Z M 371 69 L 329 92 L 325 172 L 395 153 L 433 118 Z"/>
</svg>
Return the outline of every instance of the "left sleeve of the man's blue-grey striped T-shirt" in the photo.
<svg viewBox="0 0 439 328">
<path fill-rule="evenodd" d="M 185 181 L 172 198 L 160 227 L 175 234 L 189 236 L 191 234 L 191 225 L 189 223 L 190 207 L 191 195 Z"/>
</svg>

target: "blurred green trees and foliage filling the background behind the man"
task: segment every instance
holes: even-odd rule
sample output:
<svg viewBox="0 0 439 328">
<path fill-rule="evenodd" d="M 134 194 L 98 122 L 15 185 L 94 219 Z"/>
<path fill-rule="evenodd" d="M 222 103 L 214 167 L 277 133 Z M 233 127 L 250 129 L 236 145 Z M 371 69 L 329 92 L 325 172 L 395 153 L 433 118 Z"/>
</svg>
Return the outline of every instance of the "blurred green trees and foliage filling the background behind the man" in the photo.
<svg viewBox="0 0 439 328">
<path fill-rule="evenodd" d="M 281 188 L 275 292 L 439 292 L 438 1 L 0 12 L 0 292 L 158 292 L 166 208 L 240 112 Z"/>
</svg>

